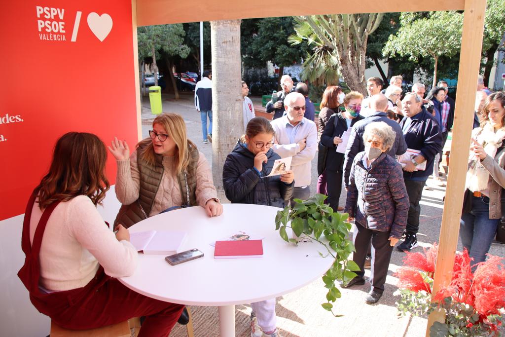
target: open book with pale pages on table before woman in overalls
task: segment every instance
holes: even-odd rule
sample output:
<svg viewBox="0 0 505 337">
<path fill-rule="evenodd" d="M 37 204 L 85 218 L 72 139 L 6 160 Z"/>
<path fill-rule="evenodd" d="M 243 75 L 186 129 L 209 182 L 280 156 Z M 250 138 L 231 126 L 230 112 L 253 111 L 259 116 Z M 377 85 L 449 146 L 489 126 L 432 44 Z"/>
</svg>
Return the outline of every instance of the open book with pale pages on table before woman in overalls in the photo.
<svg viewBox="0 0 505 337">
<path fill-rule="evenodd" d="M 185 239 L 186 232 L 148 230 L 130 233 L 130 243 L 137 252 L 144 254 L 180 253 Z"/>
</svg>

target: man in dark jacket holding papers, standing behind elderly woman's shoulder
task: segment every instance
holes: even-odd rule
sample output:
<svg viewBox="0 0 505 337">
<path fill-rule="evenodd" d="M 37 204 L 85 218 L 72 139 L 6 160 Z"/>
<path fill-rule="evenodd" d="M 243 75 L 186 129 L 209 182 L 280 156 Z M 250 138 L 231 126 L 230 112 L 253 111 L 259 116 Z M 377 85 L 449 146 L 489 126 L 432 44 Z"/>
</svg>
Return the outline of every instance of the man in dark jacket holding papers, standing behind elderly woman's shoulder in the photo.
<svg viewBox="0 0 505 337">
<path fill-rule="evenodd" d="M 409 215 L 407 217 L 407 236 L 397 249 L 408 252 L 417 247 L 419 215 L 421 214 L 421 196 L 428 177 L 433 173 L 433 160 L 442 146 L 442 133 L 438 122 L 423 106 L 422 99 L 415 93 L 408 93 L 401 102 L 403 119 L 401 129 L 405 135 L 407 147 L 420 151 L 412 160 L 405 162 L 403 179 L 409 195 Z M 418 166 L 426 162 L 424 170 Z M 424 164 L 423 164 L 424 166 Z"/>
</svg>

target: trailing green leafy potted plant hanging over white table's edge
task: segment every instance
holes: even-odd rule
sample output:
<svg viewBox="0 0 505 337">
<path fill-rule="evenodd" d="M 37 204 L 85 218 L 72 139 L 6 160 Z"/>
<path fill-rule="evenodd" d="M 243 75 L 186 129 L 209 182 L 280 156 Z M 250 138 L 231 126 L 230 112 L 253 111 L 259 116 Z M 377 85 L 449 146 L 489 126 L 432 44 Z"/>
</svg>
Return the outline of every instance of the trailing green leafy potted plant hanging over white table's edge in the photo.
<svg viewBox="0 0 505 337">
<path fill-rule="evenodd" d="M 327 302 L 323 303 L 322 307 L 332 311 L 331 302 L 335 302 L 342 296 L 335 286 L 335 280 L 349 282 L 356 276 L 354 271 L 359 270 L 359 267 L 354 261 L 348 261 L 350 253 L 355 251 L 351 240 L 347 238 L 351 228 L 347 221 L 349 215 L 333 212 L 330 206 L 324 204 L 326 198 L 325 195 L 316 194 L 305 201 L 295 199 L 294 207 L 286 206 L 284 210 L 277 212 L 275 229 L 279 230 L 283 240 L 294 245 L 305 237 L 319 242 L 327 250 L 327 254 L 319 254 L 322 257 L 331 255 L 334 259 L 332 267 L 323 276 L 324 286 L 328 292 Z M 288 237 L 287 227 L 292 229 L 298 239 Z"/>
</svg>

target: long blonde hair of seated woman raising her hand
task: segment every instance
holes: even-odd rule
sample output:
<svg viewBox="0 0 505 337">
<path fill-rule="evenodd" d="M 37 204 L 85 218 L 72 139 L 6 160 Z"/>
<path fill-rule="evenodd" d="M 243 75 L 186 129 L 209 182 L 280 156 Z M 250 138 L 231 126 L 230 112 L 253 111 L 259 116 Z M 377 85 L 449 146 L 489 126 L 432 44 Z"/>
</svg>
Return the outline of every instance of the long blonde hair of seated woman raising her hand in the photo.
<svg viewBox="0 0 505 337">
<path fill-rule="evenodd" d="M 181 173 L 188 167 L 189 162 L 191 161 L 189 147 L 191 146 L 194 150 L 197 150 L 196 145 L 194 145 L 194 143 L 186 136 L 186 123 L 184 123 L 184 119 L 177 114 L 163 113 L 155 118 L 153 126 L 155 124 L 162 126 L 165 131 L 167 131 L 168 136 L 172 137 L 174 140 L 176 148 L 175 156 L 177 159 L 177 174 Z M 156 154 L 153 148 L 153 140 L 150 137 L 147 137 L 138 142 L 137 149 L 139 147 L 143 148 L 140 152 L 141 158 L 148 164 L 154 166 L 156 162 Z"/>
</svg>

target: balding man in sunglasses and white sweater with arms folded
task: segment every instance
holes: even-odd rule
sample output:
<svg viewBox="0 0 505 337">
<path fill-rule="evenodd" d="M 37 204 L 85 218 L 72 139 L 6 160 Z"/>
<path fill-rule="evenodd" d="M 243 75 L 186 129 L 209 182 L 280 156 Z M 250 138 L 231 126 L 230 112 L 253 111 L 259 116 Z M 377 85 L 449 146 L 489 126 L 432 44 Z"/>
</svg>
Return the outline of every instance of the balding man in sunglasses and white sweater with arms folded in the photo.
<svg viewBox="0 0 505 337">
<path fill-rule="evenodd" d="M 312 159 L 317 149 L 316 124 L 305 118 L 305 98 L 298 92 L 291 92 L 284 99 L 286 114 L 272 121 L 275 130 L 272 149 L 281 158 L 293 157 L 291 170 L 294 173 L 293 199 L 306 200 L 310 197 Z M 288 200 L 286 200 L 286 203 Z"/>
</svg>

